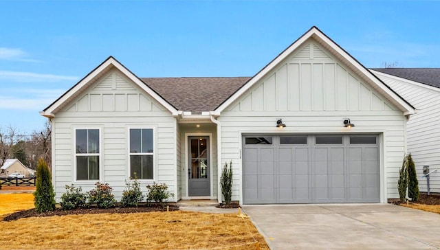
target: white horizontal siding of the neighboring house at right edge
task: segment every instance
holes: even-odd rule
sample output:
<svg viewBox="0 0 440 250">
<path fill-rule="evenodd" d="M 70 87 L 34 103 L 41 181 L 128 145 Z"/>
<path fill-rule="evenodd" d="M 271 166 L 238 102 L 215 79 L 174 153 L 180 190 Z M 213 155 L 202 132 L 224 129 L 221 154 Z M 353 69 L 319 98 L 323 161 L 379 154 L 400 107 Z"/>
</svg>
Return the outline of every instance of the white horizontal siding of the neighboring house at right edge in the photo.
<svg viewBox="0 0 440 250">
<path fill-rule="evenodd" d="M 419 82 L 375 72 L 388 86 L 408 100 L 417 113 L 408 121 L 408 152 L 415 161 L 419 190 L 427 192 L 423 166 L 430 166 L 430 192 L 440 192 L 440 89 Z"/>
</svg>

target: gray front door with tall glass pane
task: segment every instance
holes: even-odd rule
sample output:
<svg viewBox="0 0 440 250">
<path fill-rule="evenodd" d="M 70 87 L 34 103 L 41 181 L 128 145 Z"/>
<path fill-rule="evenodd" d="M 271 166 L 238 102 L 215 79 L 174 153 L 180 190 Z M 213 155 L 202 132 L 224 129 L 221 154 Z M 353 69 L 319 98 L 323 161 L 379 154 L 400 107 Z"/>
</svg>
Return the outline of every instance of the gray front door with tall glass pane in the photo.
<svg viewBox="0 0 440 250">
<path fill-rule="evenodd" d="M 188 137 L 188 194 L 210 195 L 209 137 Z"/>
</svg>

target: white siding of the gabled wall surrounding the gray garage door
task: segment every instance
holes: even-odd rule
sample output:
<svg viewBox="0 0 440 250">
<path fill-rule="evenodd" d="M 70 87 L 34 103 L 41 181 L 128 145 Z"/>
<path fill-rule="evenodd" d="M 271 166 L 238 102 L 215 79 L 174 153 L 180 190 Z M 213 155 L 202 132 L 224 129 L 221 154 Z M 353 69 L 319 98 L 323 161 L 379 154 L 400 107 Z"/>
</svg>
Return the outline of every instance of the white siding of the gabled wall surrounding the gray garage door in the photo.
<svg viewBox="0 0 440 250">
<path fill-rule="evenodd" d="M 276 128 L 283 119 L 286 128 Z M 344 128 L 350 118 L 355 127 Z M 380 135 L 381 202 L 398 198 L 397 179 L 405 152 L 406 117 L 349 67 L 310 38 L 256 82 L 219 117 L 221 159 L 241 173 L 241 135 Z M 241 174 L 234 174 L 232 200 L 241 200 Z"/>
</svg>

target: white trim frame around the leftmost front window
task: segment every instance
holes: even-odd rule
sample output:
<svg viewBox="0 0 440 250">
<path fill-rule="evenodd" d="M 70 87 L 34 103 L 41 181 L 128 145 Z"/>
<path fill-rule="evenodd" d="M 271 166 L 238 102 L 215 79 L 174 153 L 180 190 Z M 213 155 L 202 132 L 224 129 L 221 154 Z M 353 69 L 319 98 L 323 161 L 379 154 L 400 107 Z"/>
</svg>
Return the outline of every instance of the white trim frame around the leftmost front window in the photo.
<svg viewBox="0 0 440 250">
<path fill-rule="evenodd" d="M 91 129 L 98 129 L 98 135 L 99 135 L 99 153 L 94 153 L 94 154 L 77 154 L 76 153 L 76 130 L 80 130 L 80 129 L 87 129 L 87 130 L 91 130 Z M 100 181 L 100 182 L 102 182 L 102 177 L 104 176 L 104 166 L 102 165 L 102 162 L 103 162 L 103 159 L 102 159 L 102 150 L 104 150 L 103 148 L 102 148 L 102 126 L 78 126 L 78 127 L 74 127 L 74 130 L 73 130 L 73 137 L 74 137 L 74 147 L 73 147 L 73 157 L 74 157 L 74 160 L 73 160 L 73 162 L 74 162 L 74 166 L 73 166 L 73 172 L 74 172 L 74 174 L 73 174 L 73 177 L 74 177 L 74 179 L 73 179 L 73 182 L 74 183 L 76 183 L 76 184 L 82 184 L 82 183 L 84 183 L 84 184 L 90 184 L 90 183 L 96 183 L 97 181 Z M 98 170 L 98 172 L 99 172 L 99 178 L 98 178 L 98 180 L 78 180 L 77 179 L 77 174 L 76 174 L 76 157 L 77 156 L 98 156 L 99 157 L 99 161 L 98 161 L 98 163 L 99 163 L 99 170 Z"/>
</svg>

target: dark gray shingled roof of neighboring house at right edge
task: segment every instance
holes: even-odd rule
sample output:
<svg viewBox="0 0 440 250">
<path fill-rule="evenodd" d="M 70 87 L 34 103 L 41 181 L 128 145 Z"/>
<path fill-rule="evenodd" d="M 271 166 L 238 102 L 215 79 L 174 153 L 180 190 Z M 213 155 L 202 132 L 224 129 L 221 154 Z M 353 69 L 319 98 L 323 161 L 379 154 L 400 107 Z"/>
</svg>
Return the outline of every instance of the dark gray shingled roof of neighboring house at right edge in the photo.
<svg viewBox="0 0 440 250">
<path fill-rule="evenodd" d="M 440 68 L 379 68 L 373 70 L 440 88 Z"/>
</svg>

